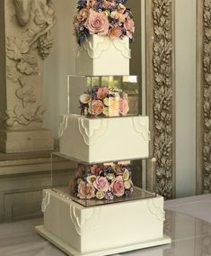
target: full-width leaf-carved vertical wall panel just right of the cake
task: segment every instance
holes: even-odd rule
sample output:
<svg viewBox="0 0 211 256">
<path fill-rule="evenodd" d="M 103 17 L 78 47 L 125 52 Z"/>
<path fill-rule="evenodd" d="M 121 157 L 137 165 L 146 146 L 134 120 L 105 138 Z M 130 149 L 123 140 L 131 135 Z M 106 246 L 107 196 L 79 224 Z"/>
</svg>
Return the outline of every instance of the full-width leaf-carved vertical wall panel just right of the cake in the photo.
<svg viewBox="0 0 211 256">
<path fill-rule="evenodd" d="M 146 94 L 155 187 L 174 197 L 174 0 L 146 0 Z M 148 165 L 150 169 L 150 164 Z M 152 173 L 148 171 L 148 187 Z"/>
</svg>

